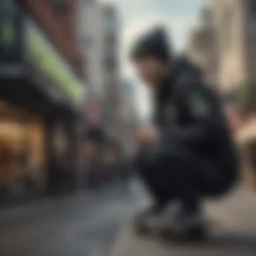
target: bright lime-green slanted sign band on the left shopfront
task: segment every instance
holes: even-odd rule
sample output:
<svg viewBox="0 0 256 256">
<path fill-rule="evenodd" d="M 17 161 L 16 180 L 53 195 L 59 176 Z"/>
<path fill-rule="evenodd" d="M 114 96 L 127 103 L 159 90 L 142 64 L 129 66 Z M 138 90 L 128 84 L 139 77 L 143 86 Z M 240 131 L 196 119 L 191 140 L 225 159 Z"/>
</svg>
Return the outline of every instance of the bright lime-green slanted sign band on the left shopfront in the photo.
<svg viewBox="0 0 256 256">
<path fill-rule="evenodd" d="M 27 27 L 28 60 L 49 77 L 74 103 L 82 102 L 84 86 L 73 73 L 67 61 L 59 55 L 53 44 L 28 20 Z"/>
</svg>

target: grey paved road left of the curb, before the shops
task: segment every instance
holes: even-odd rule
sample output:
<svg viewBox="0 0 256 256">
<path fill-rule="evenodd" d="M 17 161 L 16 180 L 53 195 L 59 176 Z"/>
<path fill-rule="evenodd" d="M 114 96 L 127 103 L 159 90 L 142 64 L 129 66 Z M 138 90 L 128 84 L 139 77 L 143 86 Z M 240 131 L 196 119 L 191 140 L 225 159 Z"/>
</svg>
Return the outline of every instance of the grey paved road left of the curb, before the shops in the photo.
<svg viewBox="0 0 256 256">
<path fill-rule="evenodd" d="M 0 255 L 106 255 L 121 223 L 135 210 L 136 186 L 133 182 L 0 210 Z"/>
</svg>

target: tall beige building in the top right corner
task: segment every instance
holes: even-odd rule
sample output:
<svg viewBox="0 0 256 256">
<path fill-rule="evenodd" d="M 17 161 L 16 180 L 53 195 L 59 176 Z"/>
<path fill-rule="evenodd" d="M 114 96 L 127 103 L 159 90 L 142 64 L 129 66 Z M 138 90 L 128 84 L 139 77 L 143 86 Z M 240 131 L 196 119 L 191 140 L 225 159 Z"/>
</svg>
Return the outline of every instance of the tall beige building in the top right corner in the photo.
<svg viewBox="0 0 256 256">
<path fill-rule="evenodd" d="M 256 78 L 256 2 L 212 0 L 218 40 L 218 79 L 223 94 Z"/>
</svg>

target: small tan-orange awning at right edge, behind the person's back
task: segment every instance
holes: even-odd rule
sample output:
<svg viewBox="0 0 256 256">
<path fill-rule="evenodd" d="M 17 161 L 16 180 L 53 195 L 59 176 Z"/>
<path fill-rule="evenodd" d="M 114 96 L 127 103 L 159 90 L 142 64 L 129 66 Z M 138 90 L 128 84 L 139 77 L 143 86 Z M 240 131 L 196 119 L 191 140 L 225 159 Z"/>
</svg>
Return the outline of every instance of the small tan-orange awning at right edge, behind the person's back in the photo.
<svg viewBox="0 0 256 256">
<path fill-rule="evenodd" d="M 238 131 L 236 131 L 236 140 L 238 143 L 249 143 L 256 139 L 256 117 L 246 121 Z"/>
</svg>

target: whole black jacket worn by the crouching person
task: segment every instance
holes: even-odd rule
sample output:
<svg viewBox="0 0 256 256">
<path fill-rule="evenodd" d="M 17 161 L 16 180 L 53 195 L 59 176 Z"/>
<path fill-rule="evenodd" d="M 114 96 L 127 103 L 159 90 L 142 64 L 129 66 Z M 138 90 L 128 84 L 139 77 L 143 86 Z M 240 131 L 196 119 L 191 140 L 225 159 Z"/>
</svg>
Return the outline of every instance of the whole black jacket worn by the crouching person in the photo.
<svg viewBox="0 0 256 256">
<path fill-rule="evenodd" d="M 162 138 L 151 151 L 154 158 L 168 158 L 168 149 L 179 141 L 199 158 L 220 162 L 224 168 L 236 165 L 236 150 L 226 119 L 197 67 L 186 59 L 178 61 L 155 101 L 154 123 Z"/>
</svg>

